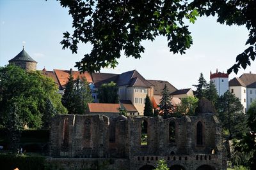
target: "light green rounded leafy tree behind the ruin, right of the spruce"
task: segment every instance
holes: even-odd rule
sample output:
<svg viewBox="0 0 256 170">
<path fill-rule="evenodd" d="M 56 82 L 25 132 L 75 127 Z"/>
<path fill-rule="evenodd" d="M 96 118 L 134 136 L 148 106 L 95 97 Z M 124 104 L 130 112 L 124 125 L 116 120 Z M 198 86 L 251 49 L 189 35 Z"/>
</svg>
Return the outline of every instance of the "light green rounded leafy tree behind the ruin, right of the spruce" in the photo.
<svg viewBox="0 0 256 170">
<path fill-rule="evenodd" d="M 195 115 L 195 110 L 198 106 L 198 99 L 193 96 L 188 96 L 180 100 L 181 102 L 177 106 L 177 112 L 181 115 Z"/>
</svg>

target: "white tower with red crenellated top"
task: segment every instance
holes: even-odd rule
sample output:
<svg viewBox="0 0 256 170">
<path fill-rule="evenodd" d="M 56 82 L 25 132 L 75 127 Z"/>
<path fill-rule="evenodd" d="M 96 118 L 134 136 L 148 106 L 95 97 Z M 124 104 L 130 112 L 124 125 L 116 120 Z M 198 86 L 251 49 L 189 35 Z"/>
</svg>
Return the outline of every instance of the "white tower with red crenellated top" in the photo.
<svg viewBox="0 0 256 170">
<path fill-rule="evenodd" d="M 216 69 L 216 73 L 213 73 L 213 74 L 211 71 L 210 80 L 214 83 L 219 96 L 227 92 L 228 90 L 228 74 L 227 73 L 218 72 L 218 69 Z"/>
</svg>

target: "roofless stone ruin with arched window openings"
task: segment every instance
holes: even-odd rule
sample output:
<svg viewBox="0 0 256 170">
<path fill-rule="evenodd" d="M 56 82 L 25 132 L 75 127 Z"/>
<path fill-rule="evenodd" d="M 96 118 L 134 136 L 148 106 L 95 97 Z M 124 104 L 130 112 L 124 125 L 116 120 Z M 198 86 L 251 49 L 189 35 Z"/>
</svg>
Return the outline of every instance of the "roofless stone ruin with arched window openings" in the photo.
<svg viewBox="0 0 256 170">
<path fill-rule="evenodd" d="M 141 145 L 143 121 L 147 145 Z M 171 122 L 174 141 L 170 141 Z M 72 169 L 65 162 L 93 167 L 90 162 L 95 160 L 108 160 L 104 169 L 152 169 L 160 159 L 172 169 L 227 169 L 221 126 L 214 113 L 167 119 L 56 115 L 50 139 L 52 160 L 61 159 L 65 169 Z"/>
</svg>

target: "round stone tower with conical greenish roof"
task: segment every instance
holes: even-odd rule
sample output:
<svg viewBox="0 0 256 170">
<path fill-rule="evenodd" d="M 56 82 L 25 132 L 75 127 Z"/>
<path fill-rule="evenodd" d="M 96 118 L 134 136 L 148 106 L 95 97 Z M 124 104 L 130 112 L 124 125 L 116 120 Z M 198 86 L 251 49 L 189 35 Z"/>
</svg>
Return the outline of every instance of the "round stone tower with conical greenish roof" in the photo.
<svg viewBox="0 0 256 170">
<path fill-rule="evenodd" d="M 13 59 L 9 60 L 9 64 L 19 66 L 22 69 L 26 69 L 26 71 L 36 71 L 37 62 L 28 55 L 23 46 L 23 50 Z"/>
</svg>

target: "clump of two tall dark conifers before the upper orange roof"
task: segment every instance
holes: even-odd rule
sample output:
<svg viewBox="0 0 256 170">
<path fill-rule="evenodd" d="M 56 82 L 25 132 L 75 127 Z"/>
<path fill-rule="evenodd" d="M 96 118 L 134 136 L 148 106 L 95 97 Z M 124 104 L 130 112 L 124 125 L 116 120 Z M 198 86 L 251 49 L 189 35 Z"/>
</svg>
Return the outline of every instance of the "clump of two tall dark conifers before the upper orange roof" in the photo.
<svg viewBox="0 0 256 170">
<path fill-rule="evenodd" d="M 77 77 L 74 80 L 73 75 L 70 74 L 61 101 L 67 108 L 68 114 L 85 114 L 88 103 L 93 102 L 92 92 L 86 78 Z"/>
</svg>

